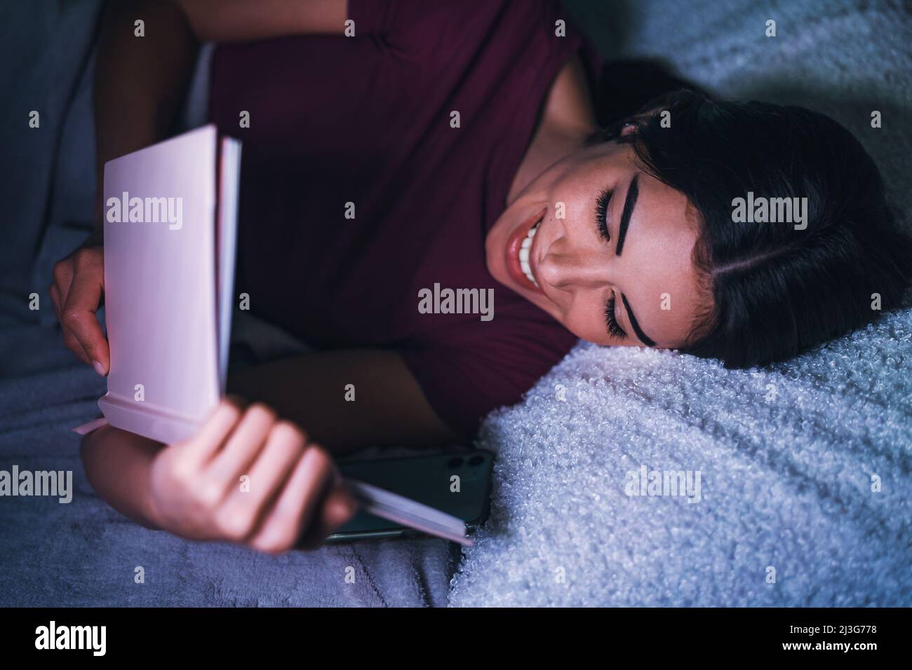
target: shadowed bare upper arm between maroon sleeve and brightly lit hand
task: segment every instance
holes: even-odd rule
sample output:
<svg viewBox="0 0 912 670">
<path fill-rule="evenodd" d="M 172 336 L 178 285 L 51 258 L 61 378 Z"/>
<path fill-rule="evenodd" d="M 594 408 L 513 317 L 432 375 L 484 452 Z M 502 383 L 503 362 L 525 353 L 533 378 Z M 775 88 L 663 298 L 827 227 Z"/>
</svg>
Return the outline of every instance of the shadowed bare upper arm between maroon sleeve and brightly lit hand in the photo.
<svg viewBox="0 0 912 670">
<path fill-rule="evenodd" d="M 374 445 L 430 447 L 459 439 L 395 352 L 343 349 L 296 356 L 248 368 L 230 377 L 228 386 L 275 407 L 333 453 Z"/>
</svg>

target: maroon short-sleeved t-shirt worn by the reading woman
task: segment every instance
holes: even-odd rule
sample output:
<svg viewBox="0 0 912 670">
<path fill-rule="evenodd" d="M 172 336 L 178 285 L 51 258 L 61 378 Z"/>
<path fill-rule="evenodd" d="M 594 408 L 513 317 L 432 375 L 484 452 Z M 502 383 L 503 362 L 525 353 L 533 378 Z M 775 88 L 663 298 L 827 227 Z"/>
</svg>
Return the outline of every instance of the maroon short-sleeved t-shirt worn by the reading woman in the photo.
<svg viewBox="0 0 912 670">
<path fill-rule="evenodd" d="M 399 352 L 471 435 L 576 341 L 492 278 L 484 239 L 554 77 L 581 47 L 592 77 L 597 55 L 555 0 L 349 0 L 348 16 L 354 37 L 216 49 L 212 119 L 244 141 L 240 290 L 311 345 Z M 435 283 L 493 289 L 492 320 L 420 313 Z"/>
</svg>

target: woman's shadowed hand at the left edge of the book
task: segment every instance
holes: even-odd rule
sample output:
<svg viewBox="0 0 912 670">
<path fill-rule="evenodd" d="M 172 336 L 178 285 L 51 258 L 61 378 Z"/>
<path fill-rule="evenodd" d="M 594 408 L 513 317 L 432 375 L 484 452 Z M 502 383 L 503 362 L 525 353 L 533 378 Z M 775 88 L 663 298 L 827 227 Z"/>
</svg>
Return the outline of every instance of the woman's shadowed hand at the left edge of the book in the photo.
<svg viewBox="0 0 912 670">
<path fill-rule="evenodd" d="M 105 254 L 98 233 L 54 265 L 50 294 L 63 328 L 63 341 L 79 360 L 102 376 L 108 374 L 110 351 L 95 313 L 104 286 Z"/>
</svg>

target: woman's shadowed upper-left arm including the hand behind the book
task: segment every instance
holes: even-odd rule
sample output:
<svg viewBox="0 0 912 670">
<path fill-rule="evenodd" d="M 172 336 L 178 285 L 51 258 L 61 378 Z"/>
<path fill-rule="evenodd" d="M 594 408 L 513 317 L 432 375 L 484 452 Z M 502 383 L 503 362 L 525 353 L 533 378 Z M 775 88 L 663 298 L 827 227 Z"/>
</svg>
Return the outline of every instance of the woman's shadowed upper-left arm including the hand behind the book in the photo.
<svg viewBox="0 0 912 670">
<path fill-rule="evenodd" d="M 144 22 L 136 36 L 135 22 Z M 54 265 L 51 299 L 64 342 L 99 375 L 109 348 L 95 316 L 104 292 L 105 162 L 168 136 L 196 61 L 197 44 L 171 0 L 117 0 L 105 6 L 95 65 L 95 232 Z"/>
</svg>

